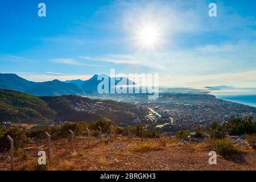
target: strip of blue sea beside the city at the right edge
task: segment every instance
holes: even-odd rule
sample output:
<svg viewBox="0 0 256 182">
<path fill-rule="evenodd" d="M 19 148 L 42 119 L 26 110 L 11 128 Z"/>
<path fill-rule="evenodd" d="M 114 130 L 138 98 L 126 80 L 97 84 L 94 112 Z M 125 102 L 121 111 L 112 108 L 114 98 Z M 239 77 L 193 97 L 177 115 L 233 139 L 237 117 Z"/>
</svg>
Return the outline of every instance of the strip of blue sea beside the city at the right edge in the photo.
<svg viewBox="0 0 256 182">
<path fill-rule="evenodd" d="M 212 94 L 221 100 L 256 107 L 256 88 L 210 90 L 209 94 Z"/>
</svg>

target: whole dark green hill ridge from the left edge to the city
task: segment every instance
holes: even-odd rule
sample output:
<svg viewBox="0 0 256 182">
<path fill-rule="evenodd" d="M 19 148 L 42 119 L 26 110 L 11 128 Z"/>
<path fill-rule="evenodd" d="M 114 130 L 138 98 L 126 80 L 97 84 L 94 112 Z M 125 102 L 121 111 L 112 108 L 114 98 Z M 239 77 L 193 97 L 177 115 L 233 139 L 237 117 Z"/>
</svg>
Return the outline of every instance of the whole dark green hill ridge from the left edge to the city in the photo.
<svg viewBox="0 0 256 182">
<path fill-rule="evenodd" d="M 111 100 L 64 95 L 36 97 L 0 89 L 0 122 L 46 123 L 49 121 L 95 121 L 110 119 L 117 125 L 131 124 L 148 110 L 133 104 Z"/>
</svg>

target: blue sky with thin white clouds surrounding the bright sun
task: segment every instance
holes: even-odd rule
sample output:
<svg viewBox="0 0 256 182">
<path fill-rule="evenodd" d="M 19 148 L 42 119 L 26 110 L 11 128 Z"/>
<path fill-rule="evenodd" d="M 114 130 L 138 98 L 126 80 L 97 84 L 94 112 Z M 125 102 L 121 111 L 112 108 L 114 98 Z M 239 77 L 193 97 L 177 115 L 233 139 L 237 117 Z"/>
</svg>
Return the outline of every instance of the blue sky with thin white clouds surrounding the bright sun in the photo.
<svg viewBox="0 0 256 182">
<path fill-rule="evenodd" d="M 38 4 L 46 4 L 46 17 Z M 209 3 L 217 17 L 208 15 Z M 168 86 L 256 85 L 256 2 L 0 2 L 0 72 L 33 81 L 159 73 Z M 150 24 L 158 40 L 140 44 Z"/>
</svg>

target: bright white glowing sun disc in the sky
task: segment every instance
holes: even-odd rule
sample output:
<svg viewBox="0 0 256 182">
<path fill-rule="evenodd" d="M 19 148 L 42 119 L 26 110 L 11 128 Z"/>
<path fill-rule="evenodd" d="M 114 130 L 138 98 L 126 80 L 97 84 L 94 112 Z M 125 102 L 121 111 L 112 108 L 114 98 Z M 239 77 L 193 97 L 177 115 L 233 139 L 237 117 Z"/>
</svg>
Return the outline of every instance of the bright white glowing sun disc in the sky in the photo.
<svg viewBox="0 0 256 182">
<path fill-rule="evenodd" d="M 159 43 L 158 28 L 147 25 L 139 28 L 138 41 L 143 48 L 154 48 Z"/>
</svg>

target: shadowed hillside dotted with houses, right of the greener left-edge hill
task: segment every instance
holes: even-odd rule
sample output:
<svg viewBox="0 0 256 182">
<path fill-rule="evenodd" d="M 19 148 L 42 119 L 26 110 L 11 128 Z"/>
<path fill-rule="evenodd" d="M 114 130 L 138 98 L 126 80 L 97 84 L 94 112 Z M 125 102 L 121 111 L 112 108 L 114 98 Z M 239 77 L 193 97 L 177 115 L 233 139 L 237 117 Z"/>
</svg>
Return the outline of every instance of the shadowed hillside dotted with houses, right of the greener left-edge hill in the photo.
<svg viewBox="0 0 256 182">
<path fill-rule="evenodd" d="M 56 121 L 94 121 L 110 119 L 118 125 L 132 124 L 133 119 L 143 118 L 148 110 L 125 102 L 92 100 L 80 96 L 40 97 L 57 112 Z"/>
</svg>

